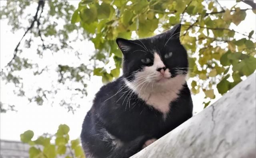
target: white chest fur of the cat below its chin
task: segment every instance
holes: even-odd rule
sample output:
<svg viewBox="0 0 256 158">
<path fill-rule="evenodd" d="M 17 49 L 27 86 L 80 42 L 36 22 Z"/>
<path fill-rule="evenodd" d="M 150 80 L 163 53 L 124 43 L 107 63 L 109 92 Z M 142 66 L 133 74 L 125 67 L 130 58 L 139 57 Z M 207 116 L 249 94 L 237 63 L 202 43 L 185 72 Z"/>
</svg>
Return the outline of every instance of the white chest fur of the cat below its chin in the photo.
<svg viewBox="0 0 256 158">
<path fill-rule="evenodd" d="M 125 80 L 131 88 L 148 105 L 162 112 L 164 116 L 170 111 L 170 102 L 178 98 L 182 85 L 186 82 L 186 76 L 176 76 L 160 83 L 138 84 Z"/>
</svg>

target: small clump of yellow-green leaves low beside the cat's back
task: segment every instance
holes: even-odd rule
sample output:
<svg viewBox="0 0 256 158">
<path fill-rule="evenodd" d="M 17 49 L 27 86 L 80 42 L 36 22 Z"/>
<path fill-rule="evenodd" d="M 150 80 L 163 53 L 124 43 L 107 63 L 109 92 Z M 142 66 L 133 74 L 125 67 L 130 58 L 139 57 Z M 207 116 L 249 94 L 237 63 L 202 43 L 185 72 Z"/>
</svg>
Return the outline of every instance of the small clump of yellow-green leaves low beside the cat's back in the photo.
<svg viewBox="0 0 256 158">
<path fill-rule="evenodd" d="M 34 132 L 27 130 L 20 134 L 20 140 L 30 145 L 30 158 L 85 158 L 80 140 L 70 140 L 68 132 L 69 127 L 61 124 L 54 135 L 44 134 L 32 140 Z"/>
</svg>

